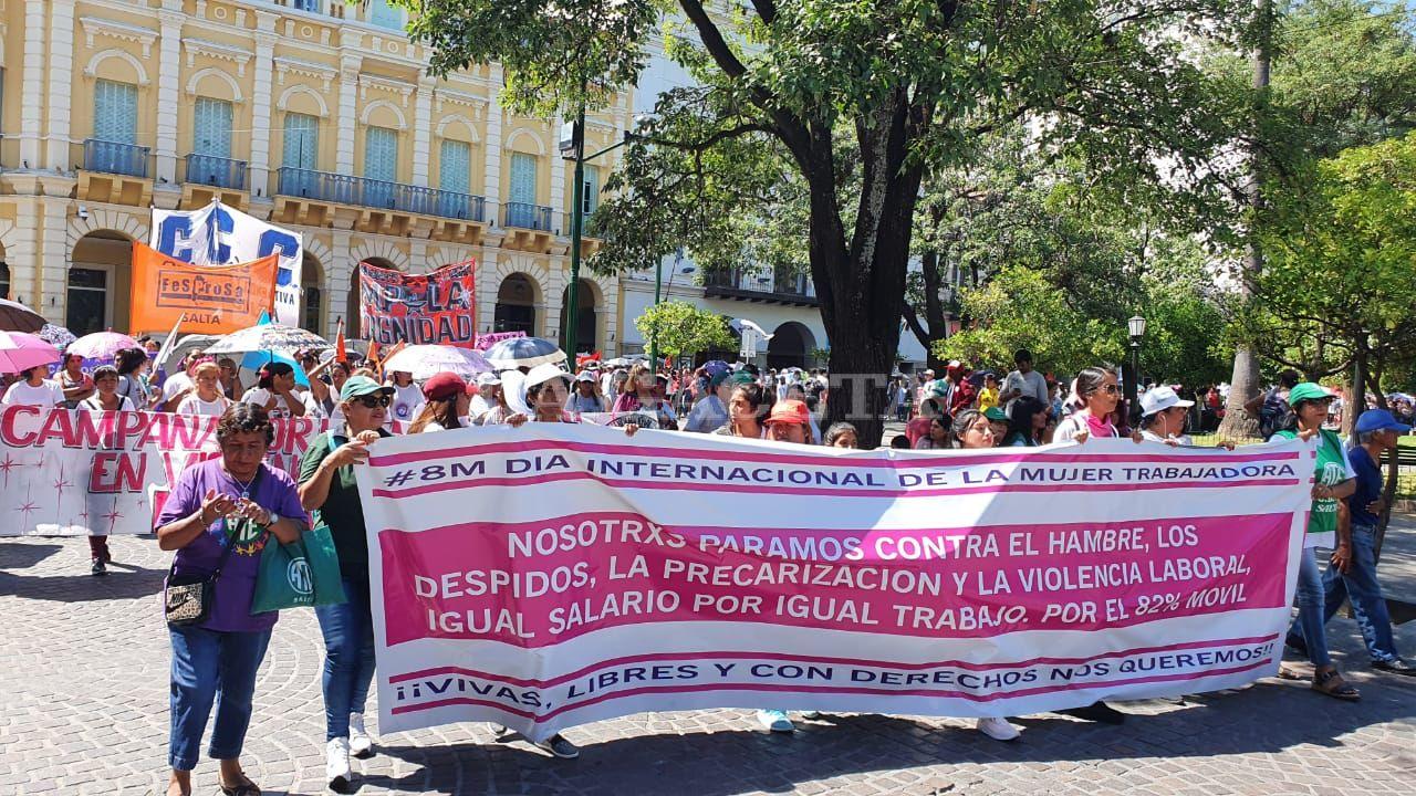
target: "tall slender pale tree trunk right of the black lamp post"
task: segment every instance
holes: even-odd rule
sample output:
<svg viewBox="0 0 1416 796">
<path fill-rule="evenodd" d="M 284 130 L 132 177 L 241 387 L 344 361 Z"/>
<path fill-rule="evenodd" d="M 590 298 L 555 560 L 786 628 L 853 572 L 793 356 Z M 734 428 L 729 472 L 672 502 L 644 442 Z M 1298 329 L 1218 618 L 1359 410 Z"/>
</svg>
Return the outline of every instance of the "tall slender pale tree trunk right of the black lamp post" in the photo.
<svg viewBox="0 0 1416 796">
<path fill-rule="evenodd" d="M 1262 116 L 1269 101 L 1269 68 L 1272 65 L 1270 40 L 1273 34 L 1273 1 L 1255 0 L 1257 7 L 1259 45 L 1253 51 L 1255 130 L 1262 130 Z M 1240 289 L 1247 296 L 1253 279 L 1263 269 L 1263 252 L 1259 251 L 1259 214 L 1263 211 L 1263 169 L 1262 153 L 1256 144 L 1249 150 L 1249 246 L 1243 263 Z M 1259 436 L 1259 418 L 1249 415 L 1243 405 L 1259 394 L 1259 357 L 1250 346 L 1235 350 L 1235 370 L 1229 378 L 1229 399 L 1225 402 L 1225 419 L 1219 423 L 1219 436 L 1242 439 Z"/>
</svg>

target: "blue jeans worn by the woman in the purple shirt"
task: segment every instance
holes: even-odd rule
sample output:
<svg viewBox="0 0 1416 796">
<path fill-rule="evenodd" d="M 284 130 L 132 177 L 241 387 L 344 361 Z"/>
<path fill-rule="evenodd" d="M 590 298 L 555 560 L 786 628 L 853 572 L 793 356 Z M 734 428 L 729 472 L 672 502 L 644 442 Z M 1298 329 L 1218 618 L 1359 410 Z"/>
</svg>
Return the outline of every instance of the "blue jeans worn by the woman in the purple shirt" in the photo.
<svg viewBox="0 0 1416 796">
<path fill-rule="evenodd" d="M 256 670 L 270 643 L 270 630 L 227 633 L 201 627 L 169 627 L 173 643 L 171 737 L 167 759 L 176 771 L 197 768 L 201 734 L 217 703 L 207 755 L 218 761 L 241 756 L 251 725 Z"/>
</svg>

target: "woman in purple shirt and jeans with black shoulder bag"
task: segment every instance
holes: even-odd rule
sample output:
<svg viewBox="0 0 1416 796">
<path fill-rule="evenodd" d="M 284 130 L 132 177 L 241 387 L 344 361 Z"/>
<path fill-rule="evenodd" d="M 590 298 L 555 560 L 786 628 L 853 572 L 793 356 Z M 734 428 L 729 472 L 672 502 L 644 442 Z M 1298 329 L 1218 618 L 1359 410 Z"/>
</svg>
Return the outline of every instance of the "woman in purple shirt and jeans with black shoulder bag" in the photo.
<svg viewBox="0 0 1416 796">
<path fill-rule="evenodd" d="M 270 537 L 293 542 L 309 527 L 295 480 L 265 463 L 273 438 L 263 408 L 229 406 L 217 423 L 221 457 L 183 470 L 157 517 L 157 545 L 177 551 L 176 575 L 210 576 L 221 569 L 207 619 L 169 626 L 173 643 L 169 796 L 191 793 L 191 769 L 197 766 L 212 700 L 218 700 L 218 707 L 207 754 L 221 761 L 221 792 L 261 793 L 241 771 L 241 746 L 251 724 L 256 669 L 270 642 L 276 613 L 252 616 L 251 598 L 261 551 Z"/>
</svg>

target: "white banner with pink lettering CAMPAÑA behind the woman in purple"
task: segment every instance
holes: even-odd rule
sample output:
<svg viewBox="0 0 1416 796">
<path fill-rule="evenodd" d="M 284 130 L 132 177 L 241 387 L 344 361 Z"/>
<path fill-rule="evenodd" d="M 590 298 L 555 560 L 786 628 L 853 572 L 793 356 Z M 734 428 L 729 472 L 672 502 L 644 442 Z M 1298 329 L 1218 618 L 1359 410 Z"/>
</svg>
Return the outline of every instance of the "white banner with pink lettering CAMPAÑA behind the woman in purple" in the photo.
<svg viewBox="0 0 1416 796">
<path fill-rule="evenodd" d="M 299 474 L 326 421 L 273 425 L 266 460 Z M 177 473 L 217 456 L 212 416 L 0 405 L 0 537 L 152 533 Z"/>
</svg>

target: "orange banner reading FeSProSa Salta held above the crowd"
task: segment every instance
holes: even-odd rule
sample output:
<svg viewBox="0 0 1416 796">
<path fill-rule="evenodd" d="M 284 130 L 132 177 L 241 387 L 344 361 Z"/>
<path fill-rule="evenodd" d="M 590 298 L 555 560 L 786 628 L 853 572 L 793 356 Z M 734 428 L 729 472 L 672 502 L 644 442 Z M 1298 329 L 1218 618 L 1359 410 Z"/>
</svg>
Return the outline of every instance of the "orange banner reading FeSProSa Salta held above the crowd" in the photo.
<svg viewBox="0 0 1416 796">
<path fill-rule="evenodd" d="M 214 268 L 133 244 L 132 329 L 163 331 L 185 313 L 183 329 L 227 334 L 261 320 L 275 303 L 280 255 Z"/>
</svg>

